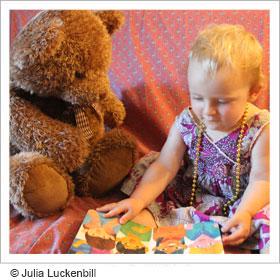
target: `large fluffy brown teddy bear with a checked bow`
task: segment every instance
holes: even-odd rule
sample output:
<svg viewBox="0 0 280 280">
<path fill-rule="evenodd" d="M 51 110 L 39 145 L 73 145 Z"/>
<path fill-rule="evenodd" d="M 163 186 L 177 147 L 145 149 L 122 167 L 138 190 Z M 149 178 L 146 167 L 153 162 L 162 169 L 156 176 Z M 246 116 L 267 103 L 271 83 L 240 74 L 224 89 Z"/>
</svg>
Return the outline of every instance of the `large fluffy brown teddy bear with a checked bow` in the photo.
<svg viewBox="0 0 280 280">
<path fill-rule="evenodd" d="M 114 128 L 125 109 L 108 78 L 111 35 L 123 21 L 117 11 L 43 11 L 16 37 L 10 202 L 24 216 L 65 208 L 74 185 L 79 195 L 103 195 L 134 164 L 135 141 Z"/>
</svg>

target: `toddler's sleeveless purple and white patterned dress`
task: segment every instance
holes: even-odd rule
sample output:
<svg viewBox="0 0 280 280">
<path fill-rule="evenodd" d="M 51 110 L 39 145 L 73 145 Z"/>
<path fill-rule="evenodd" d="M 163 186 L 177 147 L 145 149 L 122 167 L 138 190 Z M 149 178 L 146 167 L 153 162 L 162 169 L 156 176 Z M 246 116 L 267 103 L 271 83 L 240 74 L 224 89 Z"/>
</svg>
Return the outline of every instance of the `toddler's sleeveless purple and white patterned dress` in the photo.
<svg viewBox="0 0 280 280">
<path fill-rule="evenodd" d="M 269 112 L 261 110 L 247 120 L 241 147 L 241 175 L 239 199 L 230 207 L 231 217 L 249 182 L 250 157 L 252 147 L 263 128 L 269 123 Z M 193 165 L 198 128 L 192 116 L 191 108 L 185 109 L 176 118 L 176 126 L 187 146 L 184 163 L 176 177 L 165 191 L 148 206 L 159 226 L 194 223 L 213 220 L 224 223 L 223 204 L 234 194 L 236 149 L 240 128 L 213 142 L 204 133 L 202 151 L 198 162 L 198 188 L 194 207 L 190 207 Z M 140 182 L 145 170 L 158 157 L 151 152 L 144 156 L 132 169 L 124 182 L 122 191 L 128 195 Z M 261 209 L 252 220 L 250 237 L 240 247 L 269 251 L 269 205 Z"/>
</svg>

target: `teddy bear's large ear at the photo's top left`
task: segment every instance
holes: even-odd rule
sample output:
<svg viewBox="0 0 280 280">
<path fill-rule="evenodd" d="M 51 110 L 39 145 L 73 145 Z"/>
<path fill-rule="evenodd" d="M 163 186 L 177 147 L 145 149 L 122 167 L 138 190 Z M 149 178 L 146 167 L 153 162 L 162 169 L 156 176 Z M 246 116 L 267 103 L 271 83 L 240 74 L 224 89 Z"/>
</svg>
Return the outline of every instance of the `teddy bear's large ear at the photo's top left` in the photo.
<svg viewBox="0 0 280 280">
<path fill-rule="evenodd" d="M 43 64 L 54 56 L 64 40 L 62 20 L 57 14 L 41 12 L 18 34 L 12 47 L 12 63 L 19 69 Z"/>
</svg>

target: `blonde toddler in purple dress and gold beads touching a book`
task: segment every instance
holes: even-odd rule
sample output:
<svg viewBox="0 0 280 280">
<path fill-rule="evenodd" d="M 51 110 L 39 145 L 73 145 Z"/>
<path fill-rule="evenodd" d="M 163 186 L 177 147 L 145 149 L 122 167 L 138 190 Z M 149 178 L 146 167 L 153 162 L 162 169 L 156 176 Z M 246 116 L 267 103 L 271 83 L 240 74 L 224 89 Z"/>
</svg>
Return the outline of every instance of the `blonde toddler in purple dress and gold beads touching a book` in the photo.
<svg viewBox="0 0 280 280">
<path fill-rule="evenodd" d="M 133 168 L 122 187 L 130 197 L 97 210 L 152 227 L 213 220 L 224 245 L 268 252 L 269 112 L 253 105 L 261 65 L 262 47 L 242 26 L 202 31 L 189 55 L 191 107 L 161 152 Z"/>
</svg>

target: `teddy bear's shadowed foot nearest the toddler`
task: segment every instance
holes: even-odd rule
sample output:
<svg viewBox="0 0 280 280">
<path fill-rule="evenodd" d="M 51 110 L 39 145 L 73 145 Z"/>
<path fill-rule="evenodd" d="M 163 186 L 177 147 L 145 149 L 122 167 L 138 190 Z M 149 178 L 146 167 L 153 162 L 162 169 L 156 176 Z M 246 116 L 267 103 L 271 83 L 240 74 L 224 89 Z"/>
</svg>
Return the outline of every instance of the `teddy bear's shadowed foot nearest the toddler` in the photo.
<svg viewBox="0 0 280 280">
<path fill-rule="evenodd" d="M 105 134 L 85 166 L 76 172 L 76 193 L 100 197 L 119 185 L 137 158 L 134 139 L 120 129 Z"/>
</svg>

